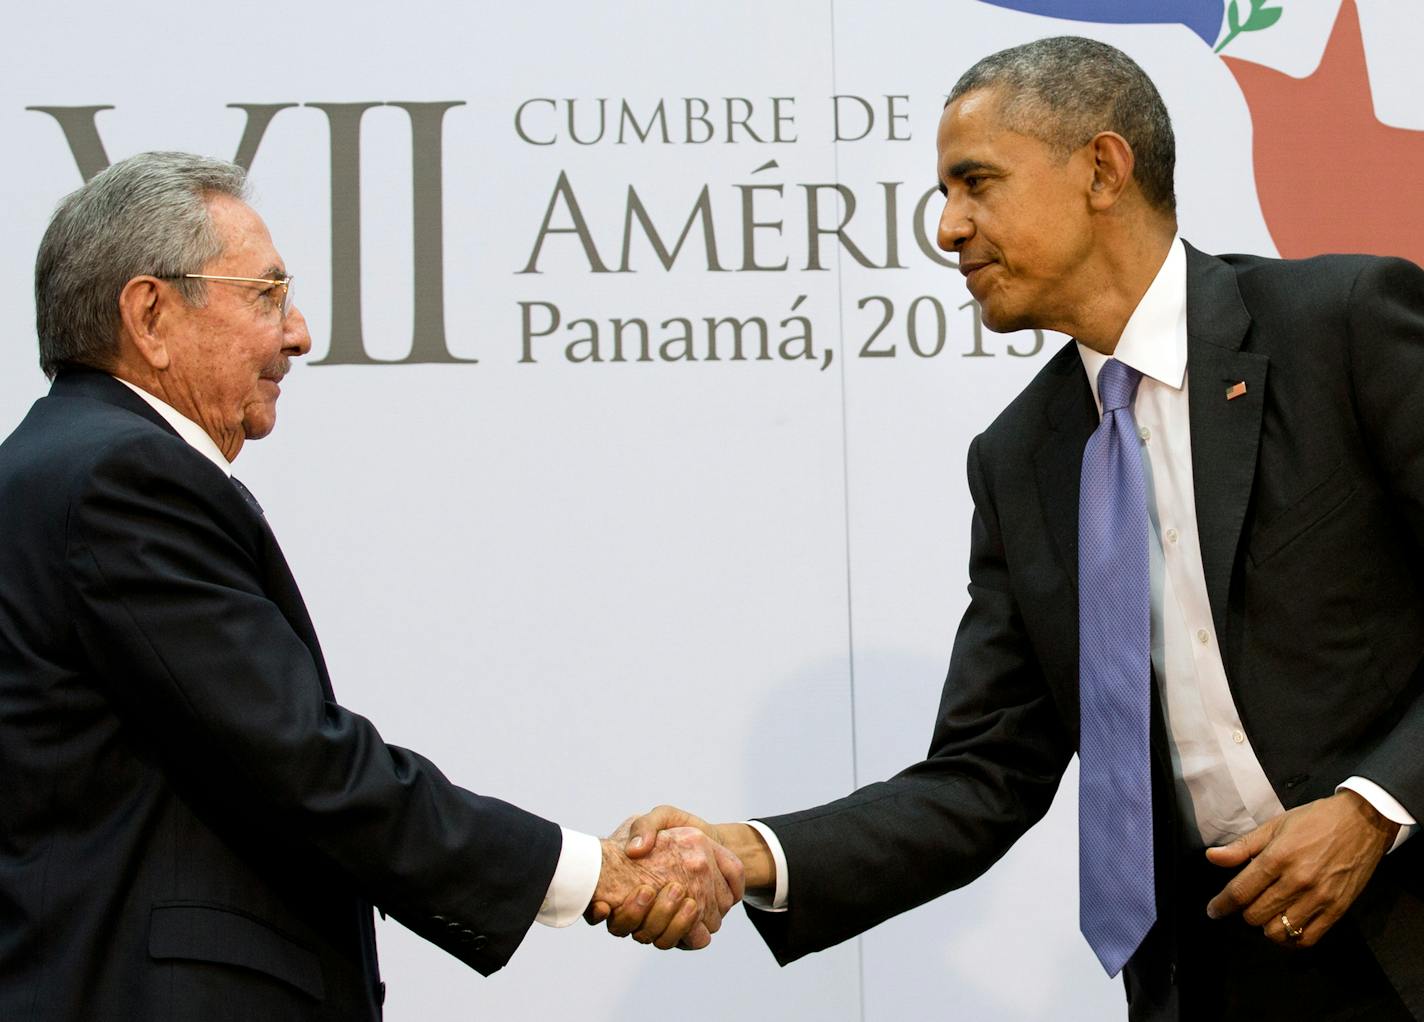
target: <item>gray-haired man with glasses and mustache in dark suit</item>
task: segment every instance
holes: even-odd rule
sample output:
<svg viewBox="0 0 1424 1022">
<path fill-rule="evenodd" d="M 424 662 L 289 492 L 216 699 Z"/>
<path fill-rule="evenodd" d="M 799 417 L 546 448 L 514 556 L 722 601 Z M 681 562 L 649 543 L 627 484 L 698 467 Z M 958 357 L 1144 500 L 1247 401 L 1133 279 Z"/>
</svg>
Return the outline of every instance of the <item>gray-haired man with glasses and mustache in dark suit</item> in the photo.
<svg viewBox="0 0 1424 1022">
<path fill-rule="evenodd" d="M 740 867 L 703 836 L 644 868 L 336 702 L 229 478 L 310 346 L 244 184 L 134 157 L 40 248 L 54 386 L 0 446 L 0 1018 L 375 1019 L 372 905 L 483 974 L 595 894 L 705 945 Z"/>
</svg>

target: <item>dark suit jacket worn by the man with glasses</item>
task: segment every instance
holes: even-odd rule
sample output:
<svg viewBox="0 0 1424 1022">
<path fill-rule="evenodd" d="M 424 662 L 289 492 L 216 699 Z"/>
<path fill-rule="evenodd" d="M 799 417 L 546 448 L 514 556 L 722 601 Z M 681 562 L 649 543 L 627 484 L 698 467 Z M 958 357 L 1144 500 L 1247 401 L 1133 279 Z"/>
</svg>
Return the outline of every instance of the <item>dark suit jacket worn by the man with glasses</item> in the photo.
<svg viewBox="0 0 1424 1022">
<path fill-rule="evenodd" d="M 373 1019 L 372 904 L 480 972 L 560 831 L 335 702 L 265 520 L 73 372 L 0 446 L 0 1018 Z"/>
</svg>

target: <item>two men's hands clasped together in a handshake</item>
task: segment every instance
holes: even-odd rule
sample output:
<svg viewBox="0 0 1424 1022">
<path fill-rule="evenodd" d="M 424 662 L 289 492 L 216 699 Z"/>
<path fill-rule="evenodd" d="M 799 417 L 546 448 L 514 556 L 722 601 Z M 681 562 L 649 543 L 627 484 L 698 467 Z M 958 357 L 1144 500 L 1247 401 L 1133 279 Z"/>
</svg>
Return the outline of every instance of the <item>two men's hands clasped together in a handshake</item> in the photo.
<svg viewBox="0 0 1424 1022">
<path fill-rule="evenodd" d="M 755 827 L 711 824 L 672 806 L 629 817 L 602 841 L 590 925 L 608 924 L 664 951 L 699 951 L 748 888 L 770 890 L 776 867 Z"/>
</svg>

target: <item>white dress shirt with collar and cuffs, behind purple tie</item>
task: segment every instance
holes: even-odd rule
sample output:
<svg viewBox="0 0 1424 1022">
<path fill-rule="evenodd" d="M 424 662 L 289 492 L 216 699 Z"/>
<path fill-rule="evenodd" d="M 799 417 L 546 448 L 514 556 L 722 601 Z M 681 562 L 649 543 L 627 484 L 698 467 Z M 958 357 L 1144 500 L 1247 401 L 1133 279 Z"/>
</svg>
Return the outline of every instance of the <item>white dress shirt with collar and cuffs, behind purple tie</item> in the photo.
<svg viewBox="0 0 1424 1022">
<path fill-rule="evenodd" d="M 1109 356 L 1084 344 L 1078 353 L 1101 417 L 1098 372 Z M 1166 716 L 1178 807 L 1188 840 L 1196 838 L 1202 847 L 1226 844 L 1284 808 L 1236 712 L 1206 596 L 1192 487 L 1186 249 L 1180 239 L 1173 238 L 1111 357 L 1142 373 L 1132 416 L 1142 437 L 1151 520 L 1152 669 Z M 1401 824 L 1394 847 L 1414 831 L 1414 817 L 1374 781 L 1349 777 L 1340 789 L 1356 791 Z M 776 863 L 776 894 L 769 905 L 763 900 L 758 907 L 780 910 L 789 887 L 786 855 L 769 827 L 758 830 Z"/>
</svg>

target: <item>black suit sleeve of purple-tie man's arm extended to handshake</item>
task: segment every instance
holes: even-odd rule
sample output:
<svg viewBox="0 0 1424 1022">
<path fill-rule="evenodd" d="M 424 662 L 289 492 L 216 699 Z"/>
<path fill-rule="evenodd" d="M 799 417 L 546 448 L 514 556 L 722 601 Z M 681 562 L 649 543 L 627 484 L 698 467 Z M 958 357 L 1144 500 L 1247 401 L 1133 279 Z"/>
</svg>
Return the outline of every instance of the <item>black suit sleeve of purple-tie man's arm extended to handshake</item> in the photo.
<svg viewBox="0 0 1424 1022">
<path fill-rule="evenodd" d="M 786 853 L 789 911 L 749 911 L 782 965 L 978 877 L 1044 816 L 1072 756 L 1012 594 L 981 441 L 970 605 L 927 757 L 826 806 L 758 817 Z"/>
</svg>

